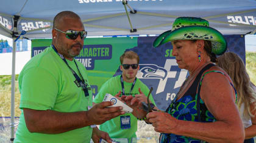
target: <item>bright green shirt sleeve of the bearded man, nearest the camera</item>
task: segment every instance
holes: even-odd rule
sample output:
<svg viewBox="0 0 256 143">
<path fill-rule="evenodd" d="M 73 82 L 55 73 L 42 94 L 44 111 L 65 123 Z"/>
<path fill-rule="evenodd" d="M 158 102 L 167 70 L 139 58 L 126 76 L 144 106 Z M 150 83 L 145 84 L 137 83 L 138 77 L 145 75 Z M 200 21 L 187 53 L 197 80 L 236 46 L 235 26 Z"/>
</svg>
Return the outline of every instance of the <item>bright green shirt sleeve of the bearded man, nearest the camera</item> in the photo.
<svg viewBox="0 0 256 143">
<path fill-rule="evenodd" d="M 31 67 L 24 72 L 21 80 L 21 109 L 48 110 L 54 107 L 58 85 L 50 71 Z"/>
</svg>

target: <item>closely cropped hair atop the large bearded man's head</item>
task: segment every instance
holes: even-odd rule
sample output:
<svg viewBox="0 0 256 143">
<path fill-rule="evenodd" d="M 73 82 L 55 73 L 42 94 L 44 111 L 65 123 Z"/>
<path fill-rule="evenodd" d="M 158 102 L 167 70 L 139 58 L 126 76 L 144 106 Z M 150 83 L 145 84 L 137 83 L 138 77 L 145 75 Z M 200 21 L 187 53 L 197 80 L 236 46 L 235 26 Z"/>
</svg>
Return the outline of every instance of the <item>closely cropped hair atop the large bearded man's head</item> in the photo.
<svg viewBox="0 0 256 143">
<path fill-rule="evenodd" d="M 58 14 L 54 17 L 54 22 L 53 22 L 53 27 L 52 27 L 52 29 L 58 28 L 58 27 L 59 27 L 59 24 L 62 22 L 62 20 L 63 20 L 64 18 L 80 19 L 79 15 L 77 15 L 77 14 L 74 13 L 74 12 L 71 12 L 71 11 L 63 11 L 63 12 L 60 12 L 60 13 L 58 13 Z"/>
</svg>

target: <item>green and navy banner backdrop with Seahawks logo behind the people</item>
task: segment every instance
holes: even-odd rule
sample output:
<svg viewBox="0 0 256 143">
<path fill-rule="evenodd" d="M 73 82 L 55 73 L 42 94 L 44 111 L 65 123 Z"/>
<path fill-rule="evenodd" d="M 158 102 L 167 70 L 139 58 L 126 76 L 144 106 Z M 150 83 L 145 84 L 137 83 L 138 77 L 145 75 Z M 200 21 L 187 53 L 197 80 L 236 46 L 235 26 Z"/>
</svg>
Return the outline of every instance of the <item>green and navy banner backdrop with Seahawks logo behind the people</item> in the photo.
<svg viewBox="0 0 256 143">
<path fill-rule="evenodd" d="M 152 42 L 155 38 L 86 38 L 85 45 L 76 59 L 87 68 L 93 96 L 97 95 L 105 81 L 121 74 L 119 57 L 127 50 L 132 50 L 140 56 L 137 78 L 149 88 L 153 87 L 152 96 L 157 107 L 166 110 L 189 73 L 178 67 L 175 57 L 171 55 L 171 43 L 154 48 Z M 237 53 L 245 61 L 244 36 L 226 35 L 225 38 L 227 51 Z M 31 56 L 43 52 L 51 42 L 51 39 L 34 39 Z"/>
</svg>

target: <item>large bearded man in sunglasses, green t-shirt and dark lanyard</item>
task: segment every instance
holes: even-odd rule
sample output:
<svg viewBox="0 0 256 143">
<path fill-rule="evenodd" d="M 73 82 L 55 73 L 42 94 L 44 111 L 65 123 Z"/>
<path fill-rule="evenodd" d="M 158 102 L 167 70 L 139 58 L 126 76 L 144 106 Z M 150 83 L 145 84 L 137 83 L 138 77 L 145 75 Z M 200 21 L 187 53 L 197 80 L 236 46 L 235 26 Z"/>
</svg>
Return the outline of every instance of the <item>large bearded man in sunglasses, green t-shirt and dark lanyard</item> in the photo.
<svg viewBox="0 0 256 143">
<path fill-rule="evenodd" d="M 94 124 L 123 115 L 123 107 L 102 102 L 92 107 L 87 71 L 79 55 L 87 36 L 79 16 L 70 11 L 54 18 L 52 45 L 24 66 L 19 76 L 21 117 L 14 142 L 79 142 L 103 138 Z"/>
</svg>

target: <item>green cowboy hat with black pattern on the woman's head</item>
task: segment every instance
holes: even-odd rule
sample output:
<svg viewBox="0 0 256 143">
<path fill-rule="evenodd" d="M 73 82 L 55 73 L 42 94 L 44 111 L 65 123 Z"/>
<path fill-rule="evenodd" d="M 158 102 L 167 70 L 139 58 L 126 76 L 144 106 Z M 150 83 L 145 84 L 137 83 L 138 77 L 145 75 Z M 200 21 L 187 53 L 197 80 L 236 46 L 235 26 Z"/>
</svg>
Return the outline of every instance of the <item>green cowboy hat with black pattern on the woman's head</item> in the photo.
<svg viewBox="0 0 256 143">
<path fill-rule="evenodd" d="M 227 42 L 224 36 L 215 28 L 209 27 L 209 22 L 202 18 L 180 17 L 172 24 L 172 30 L 168 30 L 155 39 L 153 46 L 165 44 L 175 40 L 202 39 L 212 42 L 212 53 L 222 55 L 227 50 Z"/>
</svg>

